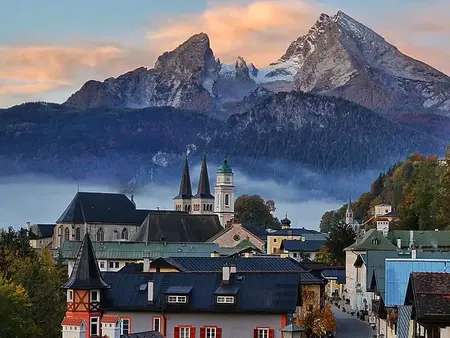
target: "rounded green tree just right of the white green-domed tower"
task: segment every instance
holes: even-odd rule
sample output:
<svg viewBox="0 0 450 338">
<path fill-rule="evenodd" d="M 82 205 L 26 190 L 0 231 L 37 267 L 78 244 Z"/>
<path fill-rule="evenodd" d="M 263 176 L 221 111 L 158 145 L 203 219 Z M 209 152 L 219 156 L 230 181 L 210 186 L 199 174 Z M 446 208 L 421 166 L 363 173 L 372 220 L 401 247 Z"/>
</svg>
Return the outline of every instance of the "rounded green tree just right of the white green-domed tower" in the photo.
<svg viewBox="0 0 450 338">
<path fill-rule="evenodd" d="M 274 203 L 275 207 L 275 203 Z M 278 229 L 279 222 L 259 195 L 241 195 L 234 202 L 234 214 L 245 225 Z"/>
</svg>

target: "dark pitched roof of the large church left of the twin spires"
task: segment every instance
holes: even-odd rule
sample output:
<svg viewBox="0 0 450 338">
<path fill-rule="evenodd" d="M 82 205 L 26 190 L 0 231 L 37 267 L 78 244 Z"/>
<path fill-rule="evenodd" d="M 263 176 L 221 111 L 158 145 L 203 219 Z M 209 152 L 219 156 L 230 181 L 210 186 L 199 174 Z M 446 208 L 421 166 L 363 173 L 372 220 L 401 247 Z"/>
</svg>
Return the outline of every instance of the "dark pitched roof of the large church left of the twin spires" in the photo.
<svg viewBox="0 0 450 338">
<path fill-rule="evenodd" d="M 149 210 L 136 210 L 124 194 L 77 192 L 56 223 L 141 225 Z"/>
</svg>

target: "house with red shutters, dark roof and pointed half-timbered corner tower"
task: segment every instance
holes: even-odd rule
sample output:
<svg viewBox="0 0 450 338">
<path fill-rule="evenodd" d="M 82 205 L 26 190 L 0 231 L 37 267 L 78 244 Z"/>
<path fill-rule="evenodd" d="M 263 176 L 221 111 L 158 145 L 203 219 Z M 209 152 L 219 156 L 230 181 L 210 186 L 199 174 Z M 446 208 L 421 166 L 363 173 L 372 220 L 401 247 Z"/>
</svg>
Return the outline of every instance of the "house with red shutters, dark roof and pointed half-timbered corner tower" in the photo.
<svg viewBox="0 0 450 338">
<path fill-rule="evenodd" d="M 62 336 L 281 338 L 301 311 L 301 275 L 241 272 L 230 264 L 202 273 L 144 272 L 132 264 L 102 275 L 86 234 L 63 286 Z"/>
</svg>

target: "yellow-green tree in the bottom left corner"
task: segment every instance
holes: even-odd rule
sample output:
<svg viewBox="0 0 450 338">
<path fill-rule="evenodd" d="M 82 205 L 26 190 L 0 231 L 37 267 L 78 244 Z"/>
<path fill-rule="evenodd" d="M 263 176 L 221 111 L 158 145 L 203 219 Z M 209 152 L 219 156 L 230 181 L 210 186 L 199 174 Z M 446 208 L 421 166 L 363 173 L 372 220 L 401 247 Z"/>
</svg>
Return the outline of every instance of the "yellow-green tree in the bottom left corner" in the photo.
<svg viewBox="0 0 450 338">
<path fill-rule="evenodd" d="M 0 273 L 0 337 L 35 337 L 36 327 L 30 314 L 25 289 Z"/>
</svg>

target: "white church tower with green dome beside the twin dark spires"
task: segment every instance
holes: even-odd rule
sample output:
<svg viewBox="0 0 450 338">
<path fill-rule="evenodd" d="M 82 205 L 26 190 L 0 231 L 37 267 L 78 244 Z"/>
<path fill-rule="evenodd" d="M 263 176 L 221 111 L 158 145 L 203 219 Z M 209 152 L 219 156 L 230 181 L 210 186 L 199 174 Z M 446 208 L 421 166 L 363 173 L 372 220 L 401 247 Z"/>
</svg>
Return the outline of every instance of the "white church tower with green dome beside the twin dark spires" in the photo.
<svg viewBox="0 0 450 338">
<path fill-rule="evenodd" d="M 216 174 L 214 212 L 219 216 L 220 224 L 223 227 L 228 221 L 234 218 L 234 185 L 233 170 L 228 165 L 225 156 L 223 164 Z"/>
</svg>

